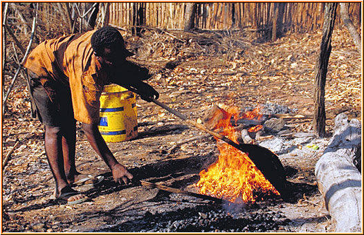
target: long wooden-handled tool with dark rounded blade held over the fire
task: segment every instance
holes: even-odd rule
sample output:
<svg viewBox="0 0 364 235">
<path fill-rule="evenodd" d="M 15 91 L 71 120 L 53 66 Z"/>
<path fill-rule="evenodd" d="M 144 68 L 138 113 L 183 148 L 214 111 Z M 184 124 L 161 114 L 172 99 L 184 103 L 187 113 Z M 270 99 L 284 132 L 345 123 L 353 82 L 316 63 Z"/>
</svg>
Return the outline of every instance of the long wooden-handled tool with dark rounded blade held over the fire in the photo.
<svg viewBox="0 0 364 235">
<path fill-rule="evenodd" d="M 282 199 L 286 201 L 292 200 L 290 194 L 291 187 L 289 187 L 289 182 L 286 181 L 286 173 L 284 171 L 284 167 L 282 165 L 282 162 L 280 162 L 278 156 L 275 155 L 275 153 L 256 144 L 237 144 L 233 142 L 233 140 L 226 138 L 226 136 L 207 129 L 206 126 L 203 126 L 203 124 L 199 124 L 188 119 L 185 115 L 179 113 L 174 109 L 171 109 L 169 106 L 159 102 L 158 100 L 150 100 L 152 100 L 154 104 L 161 106 L 163 109 L 181 118 L 186 123 L 191 124 L 192 126 L 195 126 L 202 131 L 206 131 L 207 133 L 215 136 L 215 138 L 223 140 L 224 142 L 235 147 L 236 149 L 239 149 L 240 151 L 246 153 L 248 155 L 248 158 L 253 161 L 257 169 L 259 169 L 263 173 L 266 180 L 269 180 L 269 182 L 271 182 L 275 189 L 277 189 L 277 191 L 282 196 Z"/>
</svg>

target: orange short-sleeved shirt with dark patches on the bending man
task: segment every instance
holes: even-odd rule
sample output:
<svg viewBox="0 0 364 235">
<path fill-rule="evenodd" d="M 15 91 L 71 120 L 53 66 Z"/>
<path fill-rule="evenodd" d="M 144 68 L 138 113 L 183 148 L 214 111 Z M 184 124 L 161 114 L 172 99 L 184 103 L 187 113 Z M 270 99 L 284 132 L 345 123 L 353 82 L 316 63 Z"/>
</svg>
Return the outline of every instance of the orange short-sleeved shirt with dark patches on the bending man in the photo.
<svg viewBox="0 0 364 235">
<path fill-rule="evenodd" d="M 95 30 L 43 41 L 24 63 L 24 67 L 40 77 L 46 91 L 57 92 L 46 86 L 47 82 L 69 86 L 74 118 L 88 124 L 99 122 L 100 95 L 107 82 L 106 71 L 93 55 L 93 32 Z"/>
</svg>

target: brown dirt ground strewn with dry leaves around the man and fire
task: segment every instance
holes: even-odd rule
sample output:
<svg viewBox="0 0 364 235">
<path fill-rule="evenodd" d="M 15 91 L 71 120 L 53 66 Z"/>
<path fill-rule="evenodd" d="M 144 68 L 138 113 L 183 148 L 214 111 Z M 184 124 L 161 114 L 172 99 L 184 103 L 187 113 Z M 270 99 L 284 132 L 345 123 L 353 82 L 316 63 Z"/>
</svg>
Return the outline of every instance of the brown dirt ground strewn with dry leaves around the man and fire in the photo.
<svg viewBox="0 0 364 235">
<path fill-rule="evenodd" d="M 236 35 L 237 32 L 234 35 L 228 31 L 189 35 L 150 31 L 144 37 L 125 37 L 129 48 L 134 51 L 138 48 L 136 60 L 156 73 L 148 83 L 161 94 L 159 100 L 191 119 L 202 118 L 212 104 L 244 109 L 267 102 L 287 106 L 298 114 L 311 115 L 314 67 L 321 33 L 286 35 L 273 43 L 247 32 L 239 32 L 238 38 Z M 167 62 L 176 63 L 170 67 Z M 337 28 L 332 39 L 326 85 L 327 138 L 322 142 L 328 142 L 333 119 L 338 113 L 345 112 L 349 119 L 361 120 L 361 64 L 361 56 L 349 33 L 345 28 Z M 10 79 L 8 70 L 6 89 Z M 140 98 L 137 109 L 138 138 L 108 143 L 114 156 L 137 178 L 196 190 L 191 185 L 198 181 L 199 171 L 214 162 L 219 154 L 215 140 L 188 142 L 167 154 L 163 150 L 175 142 L 205 133 L 190 128 L 167 111 Z M 312 131 L 309 118 L 289 120 L 287 124 L 295 132 Z M 211 206 L 206 200 L 164 194 L 158 189 L 116 185 L 80 126 L 76 146 L 78 170 L 102 175 L 105 179 L 98 187 L 78 188 L 91 198 L 90 201 L 57 205 L 50 200 L 54 182 L 44 152 L 44 129 L 37 120 L 30 118 L 23 79 L 15 83 L 2 127 L 3 158 L 19 141 L 3 169 L 3 232 L 145 232 L 144 218 L 149 214 L 154 217 L 149 216 L 148 221 L 161 220 L 161 215 L 179 208 Z M 279 155 L 287 180 L 297 186 L 298 200 L 285 203 L 280 198 L 273 198 L 267 204 L 263 201 L 246 205 L 245 214 L 277 213 L 288 218 L 287 223 L 275 229 L 249 231 L 334 231 L 334 223 L 322 205 L 314 176 L 315 163 L 323 150 L 320 148 L 305 158 Z"/>
</svg>

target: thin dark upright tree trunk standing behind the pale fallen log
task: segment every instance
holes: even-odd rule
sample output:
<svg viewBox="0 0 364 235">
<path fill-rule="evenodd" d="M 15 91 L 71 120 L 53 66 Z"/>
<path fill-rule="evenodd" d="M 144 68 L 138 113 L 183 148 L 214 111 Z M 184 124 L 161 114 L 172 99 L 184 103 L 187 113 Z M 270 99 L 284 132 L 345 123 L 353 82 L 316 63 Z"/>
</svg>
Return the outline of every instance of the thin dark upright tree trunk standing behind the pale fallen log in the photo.
<svg viewBox="0 0 364 235">
<path fill-rule="evenodd" d="M 331 53 L 331 35 L 332 30 L 334 29 L 337 6 L 338 3 L 325 3 L 325 22 L 322 28 L 320 55 L 318 56 L 315 68 L 315 91 L 313 92 L 315 110 L 313 113 L 313 130 L 316 132 L 316 135 L 321 138 L 325 136 L 325 84 L 327 65 L 329 64 Z"/>
</svg>

